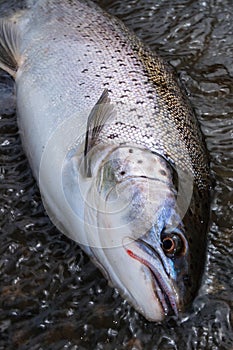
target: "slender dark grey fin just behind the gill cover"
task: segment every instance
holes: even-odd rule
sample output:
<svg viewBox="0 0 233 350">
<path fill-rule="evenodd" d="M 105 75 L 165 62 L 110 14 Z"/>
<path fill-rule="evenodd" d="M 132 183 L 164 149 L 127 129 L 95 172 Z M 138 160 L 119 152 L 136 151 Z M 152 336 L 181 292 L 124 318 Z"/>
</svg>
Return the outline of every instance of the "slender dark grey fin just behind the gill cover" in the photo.
<svg viewBox="0 0 233 350">
<path fill-rule="evenodd" d="M 89 152 L 95 146 L 98 136 L 106 122 L 115 114 L 114 107 L 108 96 L 108 90 L 105 89 L 99 100 L 92 108 L 87 120 L 87 131 L 84 148 L 84 167 L 85 175 L 91 176 Z"/>
</svg>

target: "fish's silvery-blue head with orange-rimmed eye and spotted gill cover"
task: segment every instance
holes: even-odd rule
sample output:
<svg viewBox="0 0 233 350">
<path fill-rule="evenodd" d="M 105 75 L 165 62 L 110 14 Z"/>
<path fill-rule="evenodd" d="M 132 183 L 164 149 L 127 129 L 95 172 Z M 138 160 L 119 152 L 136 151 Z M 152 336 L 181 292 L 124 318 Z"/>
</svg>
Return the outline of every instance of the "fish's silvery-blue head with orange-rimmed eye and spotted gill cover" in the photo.
<svg viewBox="0 0 233 350">
<path fill-rule="evenodd" d="M 148 320 L 178 315 L 197 290 L 202 258 L 193 261 L 187 230 L 195 227 L 182 220 L 171 166 L 126 146 L 100 163 L 85 218 L 95 222 L 88 235 L 97 264 Z"/>
</svg>

